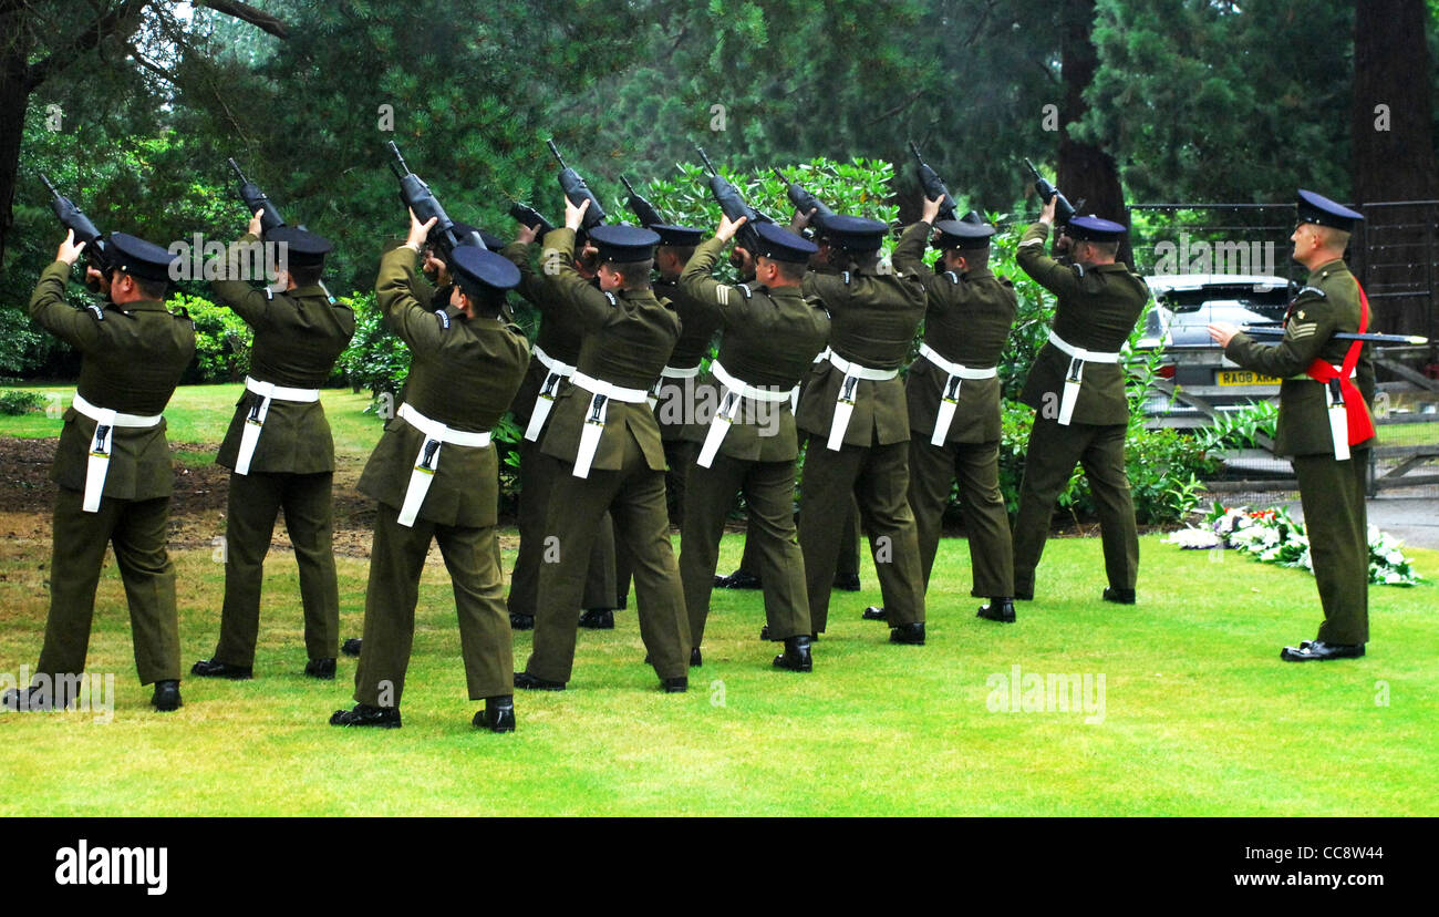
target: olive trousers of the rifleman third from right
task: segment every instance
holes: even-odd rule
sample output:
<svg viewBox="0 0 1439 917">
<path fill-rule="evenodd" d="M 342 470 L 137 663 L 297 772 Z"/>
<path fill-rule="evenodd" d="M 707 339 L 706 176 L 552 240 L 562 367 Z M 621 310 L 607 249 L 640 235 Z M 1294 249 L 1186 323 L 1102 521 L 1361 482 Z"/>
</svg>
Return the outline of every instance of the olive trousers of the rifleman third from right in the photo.
<svg viewBox="0 0 1439 917">
<path fill-rule="evenodd" d="M 810 625 L 829 623 L 829 590 L 843 540 L 850 495 L 869 536 L 879 592 L 891 626 L 924 620 L 920 537 L 909 511 L 909 443 L 826 448 L 827 436 L 807 435 L 800 489 L 800 550 L 810 597 Z"/>
</svg>

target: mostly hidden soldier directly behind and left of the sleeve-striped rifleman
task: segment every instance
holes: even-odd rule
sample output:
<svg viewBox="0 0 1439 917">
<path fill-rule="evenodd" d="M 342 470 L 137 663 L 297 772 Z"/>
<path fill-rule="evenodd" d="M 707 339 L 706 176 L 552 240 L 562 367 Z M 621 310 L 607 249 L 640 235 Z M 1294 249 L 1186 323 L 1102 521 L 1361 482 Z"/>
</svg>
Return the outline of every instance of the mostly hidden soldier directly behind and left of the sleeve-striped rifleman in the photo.
<svg viewBox="0 0 1439 917">
<path fill-rule="evenodd" d="M 689 468 L 699 455 L 704 425 L 695 422 L 695 392 L 699 383 L 699 361 L 709 354 L 709 344 L 720 330 L 718 318 L 704 304 L 692 302 L 679 285 L 689 256 L 699 245 L 704 233 L 686 226 L 655 223 L 646 226 L 659 236 L 655 249 L 655 271 L 659 279 L 653 282 L 655 298 L 669 302 L 679 315 L 679 340 L 669 354 L 665 369 L 659 371 L 655 384 L 655 419 L 659 422 L 659 438 L 665 445 L 665 505 L 672 525 L 684 524 L 685 481 Z M 616 550 L 616 607 L 625 607 L 629 597 L 630 559 L 623 544 Z M 613 628 L 612 612 L 587 612 L 580 618 L 581 628 Z"/>
</svg>

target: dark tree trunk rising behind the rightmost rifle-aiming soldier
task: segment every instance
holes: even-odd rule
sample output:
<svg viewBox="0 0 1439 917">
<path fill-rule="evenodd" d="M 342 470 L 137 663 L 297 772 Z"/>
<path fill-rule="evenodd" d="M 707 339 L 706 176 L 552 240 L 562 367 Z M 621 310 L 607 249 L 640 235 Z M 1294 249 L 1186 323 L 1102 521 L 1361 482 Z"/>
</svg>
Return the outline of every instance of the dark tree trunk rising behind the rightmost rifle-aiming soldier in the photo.
<svg viewBox="0 0 1439 917">
<path fill-rule="evenodd" d="M 1084 91 L 1099 69 L 1099 55 L 1091 40 L 1094 32 L 1094 0 L 1063 0 L 1059 14 L 1059 78 L 1065 98 L 1059 109 L 1059 174 L 1056 184 L 1069 203 L 1081 207 L 1081 214 L 1092 213 L 1107 220 L 1130 225 L 1124 207 L 1120 167 L 1101 145 L 1075 140 L 1069 125 L 1078 124 L 1089 111 Z M 1120 245 L 1120 261 L 1134 265 L 1130 240 Z"/>
</svg>

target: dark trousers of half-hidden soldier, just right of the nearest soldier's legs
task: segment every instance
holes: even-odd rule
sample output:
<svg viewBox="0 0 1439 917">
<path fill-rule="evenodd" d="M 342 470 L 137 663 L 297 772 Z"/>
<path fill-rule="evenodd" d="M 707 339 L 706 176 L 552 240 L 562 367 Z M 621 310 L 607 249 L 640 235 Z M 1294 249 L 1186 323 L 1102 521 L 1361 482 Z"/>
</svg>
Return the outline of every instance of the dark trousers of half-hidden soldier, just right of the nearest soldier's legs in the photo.
<svg viewBox="0 0 1439 917">
<path fill-rule="evenodd" d="M 547 557 L 544 523 L 550 512 L 550 492 L 560 475 L 570 474 L 570 466 L 541 452 L 540 443 L 521 439 L 519 474 L 524 476 L 517 514 L 519 551 L 515 554 L 515 570 L 509 574 L 507 603 L 511 615 L 532 616 L 540 599 L 540 569 Z M 594 538 L 581 600 L 578 607 L 614 607 L 614 536 L 609 520 Z"/>
</svg>

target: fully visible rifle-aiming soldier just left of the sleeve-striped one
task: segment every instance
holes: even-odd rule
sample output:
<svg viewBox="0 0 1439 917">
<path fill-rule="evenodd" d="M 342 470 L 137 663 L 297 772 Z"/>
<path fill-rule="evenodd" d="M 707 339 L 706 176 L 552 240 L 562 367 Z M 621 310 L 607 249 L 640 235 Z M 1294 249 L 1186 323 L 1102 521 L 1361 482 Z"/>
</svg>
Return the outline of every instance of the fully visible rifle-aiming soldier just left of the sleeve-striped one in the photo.
<svg viewBox="0 0 1439 917">
<path fill-rule="evenodd" d="M 551 410 L 541 449 L 561 459 L 547 531 L 558 563 L 540 572 L 534 652 L 515 687 L 560 691 L 574 668 L 578 622 L 570 610 L 584 589 L 584 566 L 609 510 L 635 563 L 640 638 L 665 691 L 689 687 L 689 620 L 665 510 L 665 452 L 649 393 L 679 338 L 679 318 L 655 298 L 650 269 L 659 236 L 635 226 L 596 226 L 600 289 L 571 266 L 581 207 L 566 203 L 566 225 L 545 236 L 558 252 L 555 285 L 584 328 L 570 389 Z"/>
</svg>

